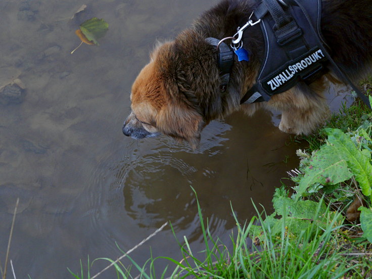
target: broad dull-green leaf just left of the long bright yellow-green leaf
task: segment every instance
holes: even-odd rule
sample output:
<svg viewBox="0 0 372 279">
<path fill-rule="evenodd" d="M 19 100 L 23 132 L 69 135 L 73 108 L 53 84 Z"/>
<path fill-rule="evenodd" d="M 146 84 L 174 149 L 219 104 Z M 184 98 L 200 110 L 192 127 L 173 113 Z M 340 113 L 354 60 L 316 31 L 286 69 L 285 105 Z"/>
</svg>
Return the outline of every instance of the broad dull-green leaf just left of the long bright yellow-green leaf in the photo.
<svg viewBox="0 0 372 279">
<path fill-rule="evenodd" d="M 296 199 L 316 183 L 337 184 L 350 179 L 351 176 L 346 160 L 340 156 L 337 149 L 334 146 L 322 146 L 310 160 L 304 177 L 299 181 Z"/>
</svg>

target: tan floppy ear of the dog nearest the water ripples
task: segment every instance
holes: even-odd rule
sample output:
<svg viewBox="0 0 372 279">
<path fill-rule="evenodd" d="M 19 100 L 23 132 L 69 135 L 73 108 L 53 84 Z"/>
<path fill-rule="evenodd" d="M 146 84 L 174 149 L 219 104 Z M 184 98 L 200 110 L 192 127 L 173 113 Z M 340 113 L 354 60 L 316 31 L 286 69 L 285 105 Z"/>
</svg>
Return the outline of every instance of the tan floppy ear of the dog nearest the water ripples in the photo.
<svg viewBox="0 0 372 279">
<path fill-rule="evenodd" d="M 157 127 L 177 141 L 185 140 L 195 150 L 205 126 L 203 117 L 187 104 L 170 101 L 158 114 Z"/>
</svg>

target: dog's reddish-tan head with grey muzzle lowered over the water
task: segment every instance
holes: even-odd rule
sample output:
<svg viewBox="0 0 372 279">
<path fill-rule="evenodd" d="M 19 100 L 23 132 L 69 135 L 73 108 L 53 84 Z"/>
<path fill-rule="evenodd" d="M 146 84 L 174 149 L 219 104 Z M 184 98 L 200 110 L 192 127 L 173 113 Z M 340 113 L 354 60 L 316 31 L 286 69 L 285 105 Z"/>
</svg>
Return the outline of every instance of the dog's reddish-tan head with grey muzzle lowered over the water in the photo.
<svg viewBox="0 0 372 279">
<path fill-rule="evenodd" d="M 184 51 L 177 49 L 175 42 L 164 43 L 155 49 L 150 63 L 133 83 L 131 113 L 123 125 L 125 135 L 139 139 L 165 134 L 177 141 L 185 140 L 193 148 L 198 145 L 207 120 L 190 79 L 198 83 L 202 78 L 191 76 L 194 73 L 203 75 L 210 68 L 208 65 L 203 65 L 203 70 L 189 68 L 195 67 L 195 61 L 191 61 L 195 59 L 189 56 L 188 61 L 185 55 Z"/>
</svg>

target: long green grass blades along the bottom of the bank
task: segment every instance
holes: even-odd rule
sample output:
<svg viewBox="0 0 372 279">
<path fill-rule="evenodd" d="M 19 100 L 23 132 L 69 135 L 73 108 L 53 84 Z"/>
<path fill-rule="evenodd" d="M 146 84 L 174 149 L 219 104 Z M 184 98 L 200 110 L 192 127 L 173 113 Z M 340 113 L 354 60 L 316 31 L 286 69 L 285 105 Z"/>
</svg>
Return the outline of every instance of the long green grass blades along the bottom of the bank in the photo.
<svg viewBox="0 0 372 279">
<path fill-rule="evenodd" d="M 203 220 L 199 204 L 198 212 L 205 243 L 205 250 L 201 251 L 203 260 L 199 259 L 200 252 L 192 251 L 187 238 L 184 238 L 182 243 L 179 242 L 183 254 L 181 261 L 169 257 L 150 258 L 144 266 L 140 267 L 129 258 L 132 261 L 132 270 L 118 263 L 115 266 L 117 278 L 152 279 L 193 276 L 206 279 L 310 279 L 346 278 L 350 274 L 353 278 L 362 278 L 363 274 L 370 272 L 371 267 L 365 257 L 359 260 L 352 255 L 353 250 L 350 245 L 352 242 L 343 236 L 340 230 L 342 226 L 338 225 L 342 218 L 340 213 L 332 214 L 325 227 L 319 227 L 315 222 L 310 223 L 308 228 L 297 236 L 291 234 L 284 224 L 280 236 L 274 237 L 270 233 L 272 227 L 263 225 L 259 244 L 255 239 L 257 245 L 249 247 L 248 239 L 252 237 L 254 224 L 257 222 L 264 224 L 264 219 L 267 217 L 264 211 L 260 213 L 257 210 L 257 217 L 243 225 L 239 224 L 234 216 L 238 232 L 235 237 L 231 235 L 231 242 L 228 244 L 222 243 L 218 238 L 213 239 L 208 228 L 208 221 Z M 231 252 L 227 246 L 232 247 Z M 168 261 L 169 266 L 158 272 L 154 265 L 158 260 Z M 168 271 L 167 275 L 166 271 Z M 74 277 L 83 279 L 85 278 L 83 274 L 87 274 L 87 279 L 91 278 L 89 271 L 83 272 L 81 265 L 80 275 L 74 274 Z"/>
</svg>

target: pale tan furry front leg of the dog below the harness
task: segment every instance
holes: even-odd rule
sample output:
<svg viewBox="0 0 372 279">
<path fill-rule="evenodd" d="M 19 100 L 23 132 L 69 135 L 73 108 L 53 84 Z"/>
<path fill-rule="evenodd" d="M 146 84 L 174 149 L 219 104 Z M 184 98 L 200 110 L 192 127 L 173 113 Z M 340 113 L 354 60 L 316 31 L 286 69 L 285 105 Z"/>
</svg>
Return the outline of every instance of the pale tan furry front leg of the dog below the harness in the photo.
<svg viewBox="0 0 372 279">
<path fill-rule="evenodd" d="M 310 134 L 331 115 L 327 100 L 323 97 L 324 79 L 319 79 L 303 92 L 294 87 L 274 95 L 268 106 L 282 111 L 279 129 L 286 133 Z"/>
</svg>

